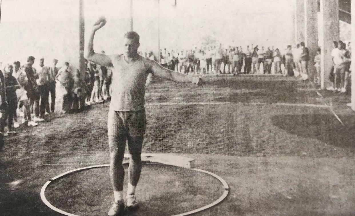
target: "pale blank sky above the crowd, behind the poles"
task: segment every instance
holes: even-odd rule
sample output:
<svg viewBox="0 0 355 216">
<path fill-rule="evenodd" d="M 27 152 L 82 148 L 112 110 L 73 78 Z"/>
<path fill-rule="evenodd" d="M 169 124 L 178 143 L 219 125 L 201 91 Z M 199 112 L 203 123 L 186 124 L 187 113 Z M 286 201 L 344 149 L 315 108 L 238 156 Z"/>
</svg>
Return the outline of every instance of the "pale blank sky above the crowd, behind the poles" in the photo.
<svg viewBox="0 0 355 216">
<path fill-rule="evenodd" d="M 160 0 L 160 47 L 192 49 L 209 36 L 225 45 L 284 48 L 291 41 L 293 0 Z M 133 0 L 133 29 L 142 52 L 158 49 L 158 1 Z M 85 0 L 85 37 L 98 17 L 96 52 L 120 53 L 130 30 L 129 0 Z M 28 55 L 72 61 L 78 52 L 78 0 L 3 0 L 0 61 Z M 45 62 L 46 63 L 46 62 Z"/>
</svg>

